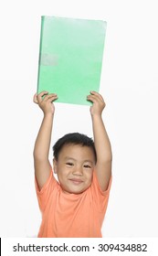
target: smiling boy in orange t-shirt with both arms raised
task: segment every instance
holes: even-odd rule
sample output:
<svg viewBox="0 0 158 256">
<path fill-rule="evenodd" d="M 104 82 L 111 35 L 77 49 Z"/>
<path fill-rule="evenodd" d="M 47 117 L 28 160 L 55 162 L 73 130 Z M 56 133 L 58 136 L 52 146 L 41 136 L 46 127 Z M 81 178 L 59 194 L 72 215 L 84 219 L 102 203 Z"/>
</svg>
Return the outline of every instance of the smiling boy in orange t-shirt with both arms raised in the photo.
<svg viewBox="0 0 158 256">
<path fill-rule="evenodd" d="M 45 97 L 43 97 L 45 96 Z M 42 223 L 39 238 L 100 238 L 111 188 L 111 143 L 101 113 L 102 96 L 90 91 L 93 141 L 69 133 L 54 145 L 53 176 L 48 160 L 57 94 L 42 91 L 34 102 L 44 112 L 34 148 L 36 189 Z"/>
</svg>

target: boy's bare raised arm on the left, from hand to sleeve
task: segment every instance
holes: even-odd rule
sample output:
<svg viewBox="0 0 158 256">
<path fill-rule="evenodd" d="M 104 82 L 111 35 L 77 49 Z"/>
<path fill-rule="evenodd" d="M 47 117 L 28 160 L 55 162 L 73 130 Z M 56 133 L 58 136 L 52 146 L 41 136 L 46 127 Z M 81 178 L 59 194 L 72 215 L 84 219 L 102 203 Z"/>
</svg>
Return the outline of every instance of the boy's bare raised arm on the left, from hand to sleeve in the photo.
<svg viewBox="0 0 158 256">
<path fill-rule="evenodd" d="M 45 98 L 43 98 L 43 96 L 45 96 Z M 55 112 L 55 107 L 52 101 L 55 101 L 57 98 L 57 94 L 47 94 L 47 91 L 42 91 L 34 96 L 34 102 L 38 104 L 44 113 L 34 147 L 35 175 L 39 189 L 44 186 L 51 171 L 48 154 Z"/>
</svg>

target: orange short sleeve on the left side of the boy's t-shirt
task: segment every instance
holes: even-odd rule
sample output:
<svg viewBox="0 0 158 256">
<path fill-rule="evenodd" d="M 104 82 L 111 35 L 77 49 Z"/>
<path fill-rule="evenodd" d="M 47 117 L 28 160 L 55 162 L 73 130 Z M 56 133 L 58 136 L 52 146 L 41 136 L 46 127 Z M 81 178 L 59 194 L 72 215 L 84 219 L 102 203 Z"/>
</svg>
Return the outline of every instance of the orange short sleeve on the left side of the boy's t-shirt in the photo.
<svg viewBox="0 0 158 256">
<path fill-rule="evenodd" d="M 48 201 L 51 193 L 53 192 L 53 189 L 56 186 L 58 186 L 58 182 L 57 182 L 56 178 L 53 176 L 52 171 L 50 172 L 50 175 L 47 179 L 47 182 L 45 183 L 44 187 L 42 187 L 41 190 L 39 190 L 39 188 L 37 186 L 37 179 L 35 177 L 35 187 L 36 187 L 36 191 L 37 191 L 37 200 L 38 200 L 39 208 L 40 208 L 42 213 L 45 210 L 45 208 L 47 206 L 47 201 Z"/>
</svg>

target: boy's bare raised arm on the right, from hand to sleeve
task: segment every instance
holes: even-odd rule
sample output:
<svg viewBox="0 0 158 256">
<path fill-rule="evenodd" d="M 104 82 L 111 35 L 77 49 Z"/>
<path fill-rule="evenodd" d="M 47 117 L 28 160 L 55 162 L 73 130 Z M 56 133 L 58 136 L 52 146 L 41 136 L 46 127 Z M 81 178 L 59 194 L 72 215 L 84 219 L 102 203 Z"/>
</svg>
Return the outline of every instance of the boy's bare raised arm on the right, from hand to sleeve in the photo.
<svg viewBox="0 0 158 256">
<path fill-rule="evenodd" d="M 105 107 L 105 102 L 102 96 L 95 91 L 90 91 L 87 97 L 88 101 L 92 101 L 90 114 L 92 120 L 94 144 L 97 153 L 96 174 L 100 183 L 100 188 L 105 191 L 108 188 L 111 178 L 111 143 L 102 121 L 101 113 Z"/>
</svg>

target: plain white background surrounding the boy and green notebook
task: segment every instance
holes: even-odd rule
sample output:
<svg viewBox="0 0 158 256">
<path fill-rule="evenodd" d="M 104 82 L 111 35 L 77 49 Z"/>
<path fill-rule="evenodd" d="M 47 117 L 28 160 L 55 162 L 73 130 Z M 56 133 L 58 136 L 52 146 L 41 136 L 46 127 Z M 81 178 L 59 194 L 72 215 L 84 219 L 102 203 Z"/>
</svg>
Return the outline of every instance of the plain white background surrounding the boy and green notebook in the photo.
<svg viewBox="0 0 158 256">
<path fill-rule="evenodd" d="M 158 237 L 156 2 L 1 1 L 1 237 L 36 237 L 40 224 L 32 152 L 42 112 L 32 98 L 41 15 L 107 21 L 100 93 L 107 103 L 103 118 L 111 138 L 113 182 L 102 233 Z M 77 131 L 92 136 L 89 107 L 56 103 L 52 145 Z"/>
</svg>

